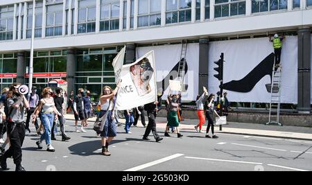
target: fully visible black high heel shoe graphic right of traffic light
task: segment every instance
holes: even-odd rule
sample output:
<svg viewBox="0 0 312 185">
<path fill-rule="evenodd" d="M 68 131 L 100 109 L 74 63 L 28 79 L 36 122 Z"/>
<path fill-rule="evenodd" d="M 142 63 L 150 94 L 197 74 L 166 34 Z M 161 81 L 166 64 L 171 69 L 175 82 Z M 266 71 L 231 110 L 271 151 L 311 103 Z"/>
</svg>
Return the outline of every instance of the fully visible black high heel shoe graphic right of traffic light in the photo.
<svg viewBox="0 0 312 185">
<path fill-rule="evenodd" d="M 265 59 L 263 59 L 257 67 L 254 67 L 247 76 L 242 78 L 241 80 L 232 80 L 231 82 L 227 82 L 223 84 L 223 89 L 227 89 L 229 91 L 236 92 L 249 92 L 251 91 L 255 85 L 264 77 L 269 75 L 272 82 L 272 69 L 274 65 L 274 53 L 270 53 Z M 270 86 L 270 84 L 268 84 Z M 266 85 L 266 89 L 268 92 L 268 85 Z M 269 88 L 270 89 L 270 88 Z"/>
</svg>

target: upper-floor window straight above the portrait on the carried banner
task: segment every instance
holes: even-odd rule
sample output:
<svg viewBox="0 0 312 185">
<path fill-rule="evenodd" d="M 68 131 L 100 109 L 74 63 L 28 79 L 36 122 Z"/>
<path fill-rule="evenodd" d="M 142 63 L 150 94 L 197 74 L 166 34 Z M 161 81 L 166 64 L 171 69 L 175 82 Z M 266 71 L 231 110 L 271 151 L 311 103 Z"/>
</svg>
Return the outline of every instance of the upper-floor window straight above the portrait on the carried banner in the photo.
<svg viewBox="0 0 312 185">
<path fill-rule="evenodd" d="M 161 0 L 139 0 L 138 27 L 157 26 L 161 22 Z"/>
</svg>

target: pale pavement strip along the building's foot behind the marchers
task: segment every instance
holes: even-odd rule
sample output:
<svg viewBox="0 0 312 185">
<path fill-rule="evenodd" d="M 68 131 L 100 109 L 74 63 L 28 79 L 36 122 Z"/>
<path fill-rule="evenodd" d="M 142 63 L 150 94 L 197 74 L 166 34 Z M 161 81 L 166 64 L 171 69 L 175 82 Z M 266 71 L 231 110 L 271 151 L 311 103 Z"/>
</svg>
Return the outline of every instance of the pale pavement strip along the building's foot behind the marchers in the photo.
<svg viewBox="0 0 312 185">
<path fill-rule="evenodd" d="M 74 120 L 73 114 L 67 114 L 65 116 L 68 120 Z M 94 122 L 96 117 L 89 118 L 89 121 Z M 146 121 L 148 118 L 146 117 Z M 125 119 L 119 119 L 119 122 L 125 123 Z M 157 117 L 157 128 L 164 129 L 166 127 L 166 118 Z M 180 130 L 191 131 L 194 130 L 194 126 L 198 124 L 198 120 L 196 119 L 188 119 L 185 118 L 179 125 Z M 138 123 L 139 127 L 143 127 L 141 125 L 141 121 Z M 203 130 L 206 132 L 207 121 L 205 125 L 203 125 Z M 243 134 L 250 136 L 267 136 L 267 137 L 275 137 L 282 139 L 300 139 L 306 141 L 312 141 L 312 127 L 296 127 L 296 126 L 279 126 L 279 125 L 263 125 L 257 123 L 236 123 L 229 122 L 227 125 L 222 126 L 222 131 L 219 130 L 219 126 L 215 126 L 216 133 L 224 133 L 224 134 Z"/>
</svg>

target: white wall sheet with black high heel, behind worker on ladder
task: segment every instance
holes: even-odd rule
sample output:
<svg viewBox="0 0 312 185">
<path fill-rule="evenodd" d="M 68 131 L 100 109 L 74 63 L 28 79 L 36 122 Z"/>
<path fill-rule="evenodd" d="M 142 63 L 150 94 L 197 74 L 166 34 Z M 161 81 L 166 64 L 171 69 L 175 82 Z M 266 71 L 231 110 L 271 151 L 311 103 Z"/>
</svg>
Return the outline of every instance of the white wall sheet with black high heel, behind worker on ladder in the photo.
<svg viewBox="0 0 312 185">
<path fill-rule="evenodd" d="M 224 53 L 223 84 L 229 101 L 269 103 L 274 62 L 269 38 L 209 42 L 209 93 L 219 91 L 214 61 L 220 53 Z M 297 36 L 283 40 L 281 66 L 281 103 L 297 103 Z"/>
</svg>

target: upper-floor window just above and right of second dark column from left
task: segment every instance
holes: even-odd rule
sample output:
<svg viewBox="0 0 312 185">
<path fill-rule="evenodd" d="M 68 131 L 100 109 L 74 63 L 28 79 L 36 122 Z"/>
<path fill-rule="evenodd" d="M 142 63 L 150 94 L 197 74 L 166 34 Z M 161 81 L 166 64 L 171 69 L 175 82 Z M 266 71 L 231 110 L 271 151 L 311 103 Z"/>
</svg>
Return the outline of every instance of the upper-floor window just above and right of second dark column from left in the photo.
<svg viewBox="0 0 312 185">
<path fill-rule="evenodd" d="M 96 0 L 80 0 L 78 3 L 78 33 L 95 32 Z"/>
</svg>

